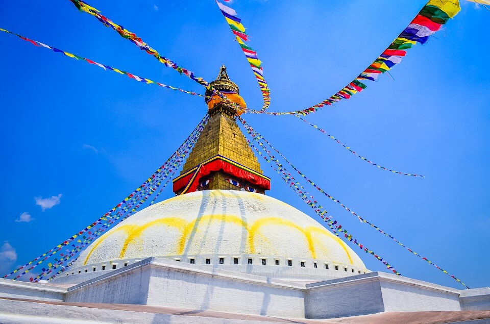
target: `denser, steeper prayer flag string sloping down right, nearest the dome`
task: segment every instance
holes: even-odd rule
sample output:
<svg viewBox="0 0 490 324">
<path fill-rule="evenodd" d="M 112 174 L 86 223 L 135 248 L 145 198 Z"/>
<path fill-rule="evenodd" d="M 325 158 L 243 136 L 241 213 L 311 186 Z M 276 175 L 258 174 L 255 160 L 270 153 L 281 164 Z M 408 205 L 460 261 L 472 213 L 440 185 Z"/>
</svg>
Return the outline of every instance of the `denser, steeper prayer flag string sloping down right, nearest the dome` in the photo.
<svg viewBox="0 0 490 324">
<path fill-rule="evenodd" d="M 240 117 L 238 117 L 240 118 Z M 347 229 L 343 228 L 336 220 L 334 220 L 331 216 L 329 217 L 326 217 L 325 215 L 327 214 L 327 211 L 320 205 L 316 205 L 317 202 L 314 200 L 314 197 L 313 195 L 311 195 L 309 192 L 307 192 L 305 190 L 305 188 L 294 178 L 291 176 L 291 173 L 289 173 L 287 171 L 287 169 L 280 163 L 279 160 L 277 160 L 272 154 L 270 151 L 268 151 L 266 148 L 265 148 L 265 145 L 264 143 L 260 142 L 258 140 L 258 138 L 260 137 L 260 135 L 258 133 L 256 133 L 251 127 L 248 127 L 248 126 L 245 126 L 247 123 L 246 121 L 244 121 L 242 118 L 240 118 L 240 121 L 243 123 L 243 126 L 246 128 L 247 130 L 247 133 L 252 137 L 252 142 L 247 138 L 247 142 L 248 144 L 253 148 L 255 149 L 255 151 L 260 155 L 262 156 L 265 161 L 267 161 L 267 163 L 269 163 L 269 165 L 278 173 L 278 175 L 284 180 L 284 182 L 290 187 L 293 189 L 293 191 L 295 191 L 302 199 L 303 201 L 309 205 L 313 210 L 314 212 L 320 216 L 322 219 L 324 219 L 327 224 L 329 225 L 330 229 L 333 231 L 333 233 L 337 236 L 337 237 L 340 237 L 338 235 L 338 232 L 342 232 L 344 233 L 344 237 L 352 242 L 353 244 L 356 244 L 358 247 L 361 248 L 361 250 L 363 249 L 364 252 L 366 253 L 369 253 L 371 254 L 372 256 L 374 256 L 376 259 L 378 259 L 380 262 L 382 262 L 386 268 L 388 270 L 391 270 L 393 271 L 396 275 L 398 276 L 401 276 L 401 273 L 398 272 L 394 267 L 392 267 L 391 265 L 388 264 L 388 262 L 386 260 L 384 260 L 383 258 L 381 258 L 378 254 L 374 253 L 373 251 L 369 250 L 367 247 L 365 247 L 365 245 L 359 243 L 357 241 L 357 239 L 355 239 L 353 237 L 352 234 L 349 234 L 349 232 L 347 231 Z M 255 147 L 255 145 L 253 144 L 253 141 L 257 141 L 257 143 L 259 143 L 260 147 L 262 148 L 262 150 L 267 154 L 267 157 L 265 157 L 264 155 L 262 155 L 262 153 L 259 151 L 259 149 L 257 147 Z M 270 146 L 270 145 L 269 145 Z M 272 165 L 271 161 L 275 162 L 276 165 L 277 165 L 277 168 Z M 282 173 L 282 175 L 281 175 Z"/>
</svg>

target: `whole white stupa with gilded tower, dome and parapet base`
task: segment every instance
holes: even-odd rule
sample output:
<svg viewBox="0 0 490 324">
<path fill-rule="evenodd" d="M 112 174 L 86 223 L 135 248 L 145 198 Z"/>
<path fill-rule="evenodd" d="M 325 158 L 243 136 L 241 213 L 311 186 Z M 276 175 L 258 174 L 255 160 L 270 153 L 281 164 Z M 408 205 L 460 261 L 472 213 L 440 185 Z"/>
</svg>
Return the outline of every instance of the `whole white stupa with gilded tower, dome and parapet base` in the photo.
<svg viewBox="0 0 490 324">
<path fill-rule="evenodd" d="M 226 67 L 211 85 L 245 107 Z M 437 311 L 490 318 L 490 288 L 371 272 L 316 220 L 267 196 L 271 180 L 235 121 L 240 111 L 210 91 L 206 103 L 210 119 L 174 179 L 176 196 L 97 238 L 62 276 L 1 279 L 0 322 L 309 322 L 374 313 L 382 322 L 394 311 L 432 311 L 424 316 L 434 322 Z"/>
</svg>

